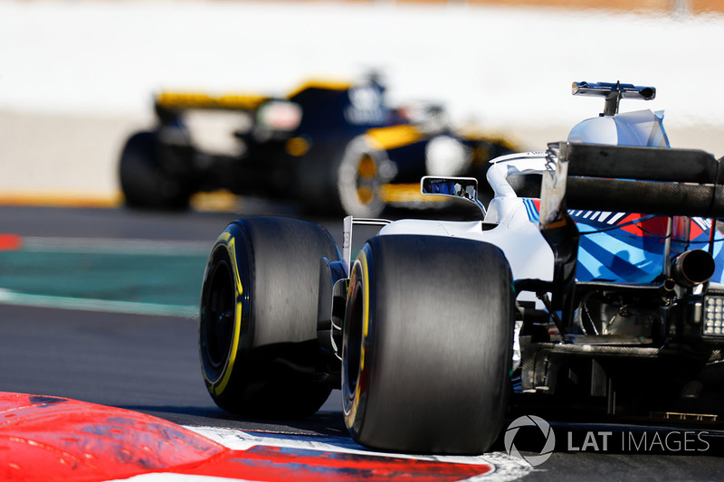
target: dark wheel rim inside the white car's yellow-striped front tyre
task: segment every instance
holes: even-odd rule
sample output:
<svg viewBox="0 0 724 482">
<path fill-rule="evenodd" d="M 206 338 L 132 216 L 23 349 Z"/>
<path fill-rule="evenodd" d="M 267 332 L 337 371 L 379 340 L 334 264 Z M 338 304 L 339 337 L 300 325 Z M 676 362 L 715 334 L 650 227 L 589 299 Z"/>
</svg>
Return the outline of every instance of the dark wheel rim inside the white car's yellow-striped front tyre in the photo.
<svg viewBox="0 0 724 482">
<path fill-rule="evenodd" d="M 233 274 L 226 260 L 214 265 L 205 310 L 205 351 L 211 365 L 218 369 L 228 358 L 233 340 Z"/>
</svg>

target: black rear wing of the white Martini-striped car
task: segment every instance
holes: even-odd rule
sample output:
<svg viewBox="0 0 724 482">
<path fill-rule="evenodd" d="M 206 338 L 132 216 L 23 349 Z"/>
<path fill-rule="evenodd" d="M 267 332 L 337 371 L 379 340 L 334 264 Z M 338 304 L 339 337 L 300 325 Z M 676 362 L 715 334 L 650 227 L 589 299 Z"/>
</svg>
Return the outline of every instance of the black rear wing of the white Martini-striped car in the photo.
<svg viewBox="0 0 724 482">
<path fill-rule="evenodd" d="M 562 209 L 724 217 L 724 168 L 697 149 L 549 144 L 540 227 Z"/>
</svg>

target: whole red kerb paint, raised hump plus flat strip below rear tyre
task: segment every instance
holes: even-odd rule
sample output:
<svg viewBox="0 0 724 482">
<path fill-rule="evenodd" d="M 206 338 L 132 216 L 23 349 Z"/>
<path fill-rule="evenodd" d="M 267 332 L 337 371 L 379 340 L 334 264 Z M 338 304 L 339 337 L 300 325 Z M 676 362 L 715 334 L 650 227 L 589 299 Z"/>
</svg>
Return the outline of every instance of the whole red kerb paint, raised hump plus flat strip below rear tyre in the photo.
<svg viewBox="0 0 724 482">
<path fill-rule="evenodd" d="M 487 464 L 329 450 L 231 450 L 135 411 L 0 392 L 0 480 L 100 482 L 164 472 L 273 482 L 452 481 L 491 470 Z"/>
</svg>

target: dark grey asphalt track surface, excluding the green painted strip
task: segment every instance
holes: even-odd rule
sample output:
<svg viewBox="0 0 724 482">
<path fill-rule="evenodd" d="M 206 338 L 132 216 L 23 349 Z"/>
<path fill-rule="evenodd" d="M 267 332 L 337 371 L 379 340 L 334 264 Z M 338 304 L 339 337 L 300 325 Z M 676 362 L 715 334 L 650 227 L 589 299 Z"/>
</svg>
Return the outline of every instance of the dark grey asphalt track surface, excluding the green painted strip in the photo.
<svg viewBox="0 0 724 482">
<path fill-rule="evenodd" d="M 300 215 L 283 205 L 249 203 L 245 207 L 244 215 Z M 210 248 L 226 223 L 240 215 L 0 206 L 0 233 L 19 235 L 36 242 L 47 238 L 82 239 L 86 243 L 84 246 L 88 245 L 88 240 L 97 241 L 99 245 L 119 245 L 123 240 L 173 241 L 171 244 L 203 251 L 205 243 Z M 320 222 L 340 239 L 341 222 Z M 203 256 L 199 255 L 199 259 Z M 57 273 L 53 274 L 52 265 L 38 268 L 39 277 L 57 276 Z M 3 263 L 0 263 L 2 269 Z M 157 262 L 149 262 L 146 269 L 148 273 L 163 272 L 164 257 L 158 256 Z M 203 272 L 203 266 L 200 269 Z M 66 274 L 70 276 L 67 270 Z M 150 274 L 138 273 L 138 279 L 145 276 Z M 200 286 L 200 280 L 189 279 L 188 282 L 192 287 L 190 293 L 193 293 L 194 283 Z M 177 305 L 187 303 L 181 300 Z M 142 310 L 134 311 L 134 306 L 121 305 L 118 310 L 112 304 L 108 307 L 59 308 L 52 303 L 33 303 L 30 298 L 20 301 L 11 298 L 0 303 L 0 366 L 3 368 L 0 391 L 54 395 L 110 405 L 186 426 L 249 430 L 272 437 L 348 437 L 339 411 L 338 392 L 332 393 L 319 413 L 303 421 L 250 421 L 221 411 L 205 391 L 201 379 L 195 318 L 186 314 L 174 316 L 173 313 L 150 315 Z M 640 427 L 581 427 L 555 421 L 552 425 L 558 437 L 556 451 L 538 468 L 520 472 L 525 479 L 720 480 L 724 472 L 722 432 L 719 430 L 710 430 L 706 450 L 659 454 L 645 449 L 595 451 L 590 445 L 585 451 L 559 450 L 565 446 L 562 439 L 569 432 L 576 434 L 576 447 L 581 447 L 587 431 L 596 434 L 613 431 L 615 438 L 619 432 L 639 430 Z M 656 429 L 650 429 L 650 436 L 651 430 Z M 688 428 L 679 426 L 668 430 L 682 432 Z M 540 446 L 536 448 L 536 443 L 534 437 L 523 441 L 521 451 L 528 446 L 532 452 L 539 451 Z M 502 444 L 499 445 L 498 449 L 502 451 L 499 455 L 505 457 Z M 600 446 L 600 438 L 597 445 Z M 507 477 L 510 478 L 515 477 Z"/>
</svg>

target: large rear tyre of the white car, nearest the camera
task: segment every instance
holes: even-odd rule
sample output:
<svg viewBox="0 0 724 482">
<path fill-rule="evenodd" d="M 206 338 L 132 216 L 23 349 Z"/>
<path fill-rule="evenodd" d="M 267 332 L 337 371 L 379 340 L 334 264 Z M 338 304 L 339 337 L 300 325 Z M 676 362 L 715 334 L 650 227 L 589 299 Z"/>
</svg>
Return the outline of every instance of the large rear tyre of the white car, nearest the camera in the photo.
<svg viewBox="0 0 724 482">
<path fill-rule="evenodd" d="M 355 260 L 342 348 L 345 423 L 375 449 L 479 454 L 510 393 L 513 290 L 479 241 L 378 236 Z"/>
</svg>

